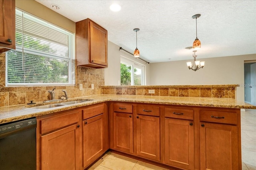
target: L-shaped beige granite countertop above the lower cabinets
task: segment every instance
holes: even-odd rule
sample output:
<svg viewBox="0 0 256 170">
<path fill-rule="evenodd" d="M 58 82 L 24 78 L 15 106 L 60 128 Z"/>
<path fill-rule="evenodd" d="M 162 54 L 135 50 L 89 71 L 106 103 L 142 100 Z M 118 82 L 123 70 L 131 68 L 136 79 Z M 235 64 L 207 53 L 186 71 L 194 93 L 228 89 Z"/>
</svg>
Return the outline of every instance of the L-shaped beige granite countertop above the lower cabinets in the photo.
<svg viewBox="0 0 256 170">
<path fill-rule="evenodd" d="M 26 119 L 30 117 L 36 117 L 40 115 L 46 115 L 55 113 L 58 111 L 64 111 L 67 109 L 74 109 L 76 107 L 88 106 L 107 101 L 115 102 L 134 102 L 134 103 L 147 103 L 147 104 L 169 104 L 169 105 L 182 105 L 182 106 L 204 106 L 204 107 L 225 107 L 225 108 L 244 108 L 244 109 L 256 109 L 256 106 L 246 104 L 244 102 L 238 102 L 230 98 L 193 98 L 193 97 L 165 97 L 165 96 L 129 96 L 129 95 L 110 95 L 101 94 L 95 96 L 84 96 L 80 98 L 72 98 L 63 102 L 72 100 L 92 99 L 92 101 L 72 104 L 67 106 L 53 107 L 47 109 L 36 109 L 31 105 L 17 105 L 0 107 L 0 124 Z M 58 102 L 52 102 L 58 103 Z M 33 106 L 40 106 L 43 104 L 39 102 Z"/>
</svg>

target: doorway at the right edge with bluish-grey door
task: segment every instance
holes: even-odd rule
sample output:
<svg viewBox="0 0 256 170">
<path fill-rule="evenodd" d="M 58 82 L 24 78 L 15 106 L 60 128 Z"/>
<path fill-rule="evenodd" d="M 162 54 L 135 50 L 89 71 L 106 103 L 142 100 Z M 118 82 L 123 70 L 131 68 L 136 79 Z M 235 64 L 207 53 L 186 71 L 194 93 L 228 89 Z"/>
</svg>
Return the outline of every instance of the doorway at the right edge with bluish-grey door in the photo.
<svg viewBox="0 0 256 170">
<path fill-rule="evenodd" d="M 244 61 L 244 102 L 256 106 L 256 61 Z"/>
</svg>

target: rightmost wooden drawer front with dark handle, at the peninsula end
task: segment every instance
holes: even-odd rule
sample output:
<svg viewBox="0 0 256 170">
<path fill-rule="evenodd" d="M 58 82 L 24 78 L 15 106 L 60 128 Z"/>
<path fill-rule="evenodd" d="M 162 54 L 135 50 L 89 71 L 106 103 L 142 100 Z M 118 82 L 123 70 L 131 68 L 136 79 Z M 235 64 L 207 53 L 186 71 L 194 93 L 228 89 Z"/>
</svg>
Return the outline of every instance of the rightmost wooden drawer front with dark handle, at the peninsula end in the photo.
<svg viewBox="0 0 256 170">
<path fill-rule="evenodd" d="M 200 121 L 237 125 L 238 115 L 235 112 L 200 110 Z"/>
</svg>

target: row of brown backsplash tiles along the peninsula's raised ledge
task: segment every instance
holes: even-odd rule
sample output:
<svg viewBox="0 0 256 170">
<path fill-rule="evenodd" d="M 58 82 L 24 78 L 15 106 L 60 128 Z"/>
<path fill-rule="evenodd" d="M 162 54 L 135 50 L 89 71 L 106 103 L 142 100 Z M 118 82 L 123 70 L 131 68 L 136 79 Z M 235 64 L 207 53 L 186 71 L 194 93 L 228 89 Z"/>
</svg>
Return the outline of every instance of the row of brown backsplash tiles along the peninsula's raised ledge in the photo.
<svg viewBox="0 0 256 170">
<path fill-rule="evenodd" d="M 102 86 L 102 94 L 235 99 L 237 86 L 239 85 Z M 148 90 L 155 90 L 155 93 L 149 94 Z"/>
</svg>

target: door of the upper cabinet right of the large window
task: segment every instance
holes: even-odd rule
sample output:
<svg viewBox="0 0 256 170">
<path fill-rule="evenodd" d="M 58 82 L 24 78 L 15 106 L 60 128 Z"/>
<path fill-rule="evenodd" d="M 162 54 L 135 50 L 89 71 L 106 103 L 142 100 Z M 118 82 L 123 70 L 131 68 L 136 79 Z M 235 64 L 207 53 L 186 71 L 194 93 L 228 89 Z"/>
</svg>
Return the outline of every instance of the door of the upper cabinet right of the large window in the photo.
<svg viewBox="0 0 256 170">
<path fill-rule="evenodd" d="M 90 25 L 90 62 L 108 66 L 108 32 L 96 23 Z"/>
</svg>

